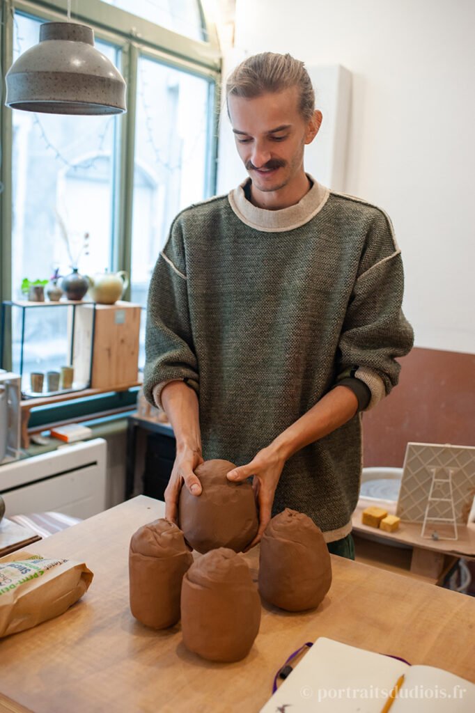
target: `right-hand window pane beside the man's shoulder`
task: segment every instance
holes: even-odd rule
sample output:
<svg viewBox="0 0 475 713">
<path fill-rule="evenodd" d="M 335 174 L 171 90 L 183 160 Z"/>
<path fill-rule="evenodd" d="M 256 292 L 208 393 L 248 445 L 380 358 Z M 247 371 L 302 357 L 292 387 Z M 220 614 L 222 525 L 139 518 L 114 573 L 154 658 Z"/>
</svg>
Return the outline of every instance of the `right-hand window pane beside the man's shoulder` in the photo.
<svg viewBox="0 0 475 713">
<path fill-rule="evenodd" d="M 207 197 L 209 104 L 205 79 L 139 59 L 131 299 L 143 306 L 173 218 Z"/>
</svg>

